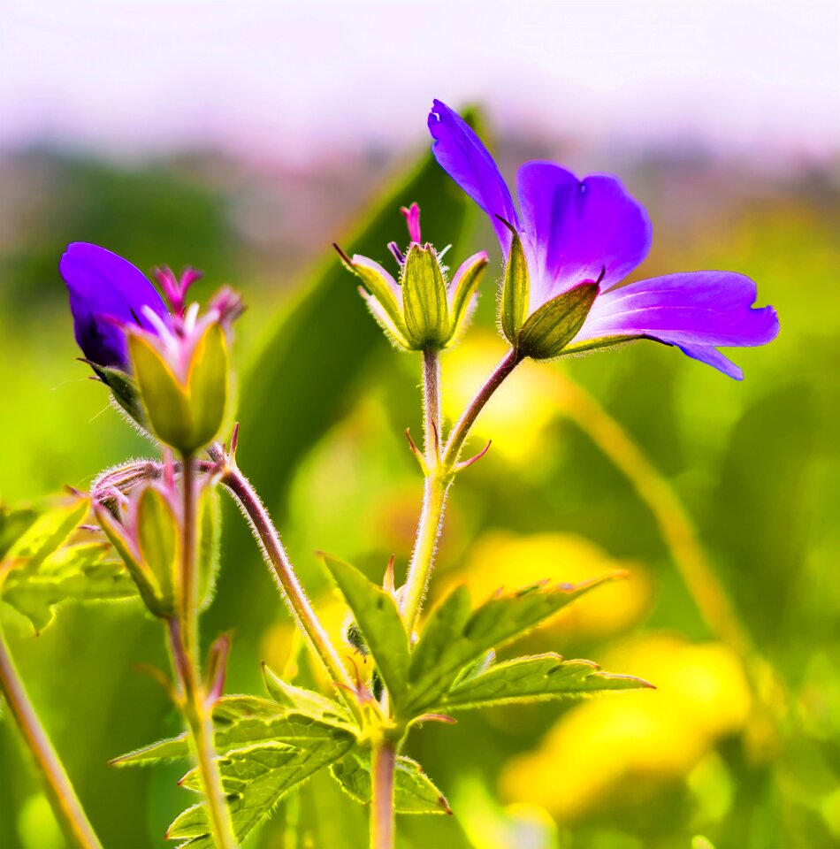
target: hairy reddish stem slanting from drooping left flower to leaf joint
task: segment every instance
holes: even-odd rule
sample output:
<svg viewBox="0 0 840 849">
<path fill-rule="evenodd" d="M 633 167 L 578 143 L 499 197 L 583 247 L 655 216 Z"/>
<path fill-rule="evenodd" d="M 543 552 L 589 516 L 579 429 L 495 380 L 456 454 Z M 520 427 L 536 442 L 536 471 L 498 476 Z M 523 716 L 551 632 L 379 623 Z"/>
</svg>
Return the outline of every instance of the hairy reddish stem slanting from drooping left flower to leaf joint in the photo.
<svg viewBox="0 0 840 849">
<path fill-rule="evenodd" d="M 283 547 L 279 533 L 271 522 L 271 516 L 263 506 L 263 502 L 260 501 L 256 490 L 251 486 L 248 478 L 233 463 L 226 465 L 222 484 L 233 493 L 236 501 L 239 502 L 243 515 L 248 519 L 248 524 L 251 525 L 251 529 L 259 539 L 263 558 L 274 571 L 277 582 L 292 610 L 292 615 L 300 623 L 302 631 L 309 638 L 311 646 L 315 649 L 321 662 L 324 663 L 332 681 L 340 685 L 341 692 L 346 692 L 345 688 L 355 689 L 353 682 L 347 675 L 347 669 L 344 668 L 344 664 L 340 660 L 339 653 L 332 645 L 332 640 L 312 608 L 301 582 L 294 574 L 294 569 L 286 554 L 286 548 Z M 348 700 L 348 702 L 354 709 L 357 709 L 355 700 Z"/>
</svg>

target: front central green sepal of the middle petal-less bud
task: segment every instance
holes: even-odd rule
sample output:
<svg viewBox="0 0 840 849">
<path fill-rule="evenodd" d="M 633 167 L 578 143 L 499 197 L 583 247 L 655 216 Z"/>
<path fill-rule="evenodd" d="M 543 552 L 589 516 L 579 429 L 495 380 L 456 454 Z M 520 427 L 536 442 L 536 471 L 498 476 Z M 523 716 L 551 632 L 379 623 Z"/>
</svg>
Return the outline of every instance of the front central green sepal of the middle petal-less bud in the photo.
<svg viewBox="0 0 840 849">
<path fill-rule="evenodd" d="M 402 310 L 412 348 L 439 348 L 449 338 L 447 284 L 433 248 L 413 244 L 402 266 Z"/>
</svg>

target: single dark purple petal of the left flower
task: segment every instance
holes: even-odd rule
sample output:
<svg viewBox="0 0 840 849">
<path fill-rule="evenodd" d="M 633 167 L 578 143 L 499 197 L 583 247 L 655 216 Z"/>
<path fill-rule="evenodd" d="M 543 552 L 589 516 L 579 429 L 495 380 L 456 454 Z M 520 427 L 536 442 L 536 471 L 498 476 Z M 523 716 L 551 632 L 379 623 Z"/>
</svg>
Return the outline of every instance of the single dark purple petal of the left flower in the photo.
<svg viewBox="0 0 840 849">
<path fill-rule="evenodd" d="M 76 341 L 86 359 L 127 371 L 126 325 L 158 333 L 153 314 L 167 328 L 172 317 L 163 298 L 134 265 L 83 241 L 67 246 L 58 265 L 70 291 Z"/>
</svg>

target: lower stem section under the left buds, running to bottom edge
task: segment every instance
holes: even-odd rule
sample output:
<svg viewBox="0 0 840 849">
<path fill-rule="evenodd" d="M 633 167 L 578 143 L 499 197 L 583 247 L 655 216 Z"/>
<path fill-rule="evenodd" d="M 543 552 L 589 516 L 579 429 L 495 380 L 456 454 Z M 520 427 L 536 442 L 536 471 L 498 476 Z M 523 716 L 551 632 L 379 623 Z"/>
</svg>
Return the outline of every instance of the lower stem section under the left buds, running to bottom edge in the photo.
<svg viewBox="0 0 840 849">
<path fill-rule="evenodd" d="M 207 805 L 210 828 L 217 849 L 235 849 L 236 838 L 227 809 L 227 798 L 218 771 L 216 747 L 213 741 L 212 705 L 207 699 L 197 664 L 191 659 L 181 625 L 176 618 L 168 619 L 169 647 L 172 667 L 178 677 L 181 709 L 189 726 L 195 761 L 202 777 L 204 801 Z"/>
</svg>

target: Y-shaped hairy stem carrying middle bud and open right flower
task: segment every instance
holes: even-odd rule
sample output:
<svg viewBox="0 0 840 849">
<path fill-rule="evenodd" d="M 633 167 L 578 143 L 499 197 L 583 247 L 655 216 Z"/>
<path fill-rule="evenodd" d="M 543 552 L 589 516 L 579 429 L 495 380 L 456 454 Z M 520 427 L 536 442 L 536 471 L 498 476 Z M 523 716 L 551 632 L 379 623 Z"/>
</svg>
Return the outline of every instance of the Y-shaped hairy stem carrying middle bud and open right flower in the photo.
<svg viewBox="0 0 840 849">
<path fill-rule="evenodd" d="M 522 358 L 522 355 L 513 349 L 508 352 L 454 425 L 441 457 L 439 445 L 435 444 L 439 440 L 441 430 L 438 355 L 437 351 L 424 351 L 424 445 L 428 473 L 424 481 L 423 509 L 420 511 L 420 521 L 417 524 L 416 541 L 409 562 L 402 603 L 402 616 L 409 632 L 416 626 L 429 585 L 455 463 L 458 462 L 463 444 L 478 414 Z M 438 434 L 437 440 L 435 433 Z M 433 451 L 432 448 L 434 448 Z"/>
</svg>

